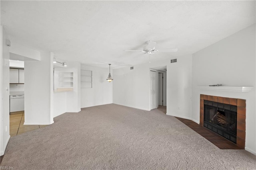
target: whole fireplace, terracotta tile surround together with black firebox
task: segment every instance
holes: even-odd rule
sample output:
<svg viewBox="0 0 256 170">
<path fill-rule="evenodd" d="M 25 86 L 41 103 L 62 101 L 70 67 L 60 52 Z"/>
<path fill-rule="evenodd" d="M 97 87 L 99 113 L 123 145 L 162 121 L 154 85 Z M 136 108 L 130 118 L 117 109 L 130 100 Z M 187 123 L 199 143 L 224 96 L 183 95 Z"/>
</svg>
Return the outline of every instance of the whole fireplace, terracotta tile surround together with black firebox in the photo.
<svg viewBox="0 0 256 170">
<path fill-rule="evenodd" d="M 224 133 L 225 135 L 222 135 L 222 136 L 226 137 L 230 141 L 233 141 L 234 143 L 236 143 L 236 145 L 238 147 L 240 147 L 241 149 L 244 149 L 244 147 L 245 147 L 246 100 L 200 94 L 200 125 L 205 126 L 205 127 L 208 127 L 208 123 L 206 122 L 207 121 L 206 117 L 208 117 L 208 116 L 204 117 L 204 111 L 207 111 L 207 109 L 205 107 L 208 107 L 208 103 L 209 103 L 209 105 L 212 105 L 212 106 L 215 105 L 216 107 L 220 107 L 220 109 L 218 109 L 218 111 L 216 111 L 220 115 L 219 116 L 220 118 L 222 117 L 222 115 L 221 115 L 222 110 L 223 111 L 225 109 L 230 110 L 230 111 L 228 111 L 228 114 L 232 115 L 231 121 L 233 121 L 233 122 L 230 123 L 230 126 L 228 128 L 229 129 L 232 128 L 233 131 Z M 212 107 L 212 106 L 210 106 L 210 107 Z M 235 117 L 233 116 L 234 113 L 237 113 L 235 115 Z M 216 120 L 217 114 L 215 114 L 215 113 L 214 114 L 211 113 L 211 114 L 212 114 L 212 116 L 210 116 L 211 119 Z M 223 114 L 225 114 L 225 113 L 223 113 Z M 228 114 L 226 113 L 226 115 L 228 115 Z M 215 115 L 215 116 L 213 116 L 213 115 Z M 226 119 L 230 119 L 230 118 L 224 118 L 224 120 L 220 119 L 219 121 L 224 121 L 224 123 L 226 123 Z M 234 120 L 236 120 L 236 122 L 234 122 Z M 224 123 L 222 123 L 222 124 L 224 124 Z M 220 124 L 220 125 L 222 125 L 222 124 Z M 213 128 L 212 128 L 212 126 L 209 125 L 210 128 L 208 127 L 208 129 L 211 129 L 212 131 L 215 131 L 216 133 L 223 134 L 221 131 L 219 132 L 219 130 L 223 129 L 222 127 L 220 127 L 218 130 L 216 130 L 216 128 L 214 126 L 215 125 L 213 125 Z M 234 128 L 236 128 L 236 130 L 234 130 Z M 226 135 L 226 134 L 228 134 L 228 135 Z M 236 135 L 236 137 L 235 137 L 235 135 Z"/>
</svg>

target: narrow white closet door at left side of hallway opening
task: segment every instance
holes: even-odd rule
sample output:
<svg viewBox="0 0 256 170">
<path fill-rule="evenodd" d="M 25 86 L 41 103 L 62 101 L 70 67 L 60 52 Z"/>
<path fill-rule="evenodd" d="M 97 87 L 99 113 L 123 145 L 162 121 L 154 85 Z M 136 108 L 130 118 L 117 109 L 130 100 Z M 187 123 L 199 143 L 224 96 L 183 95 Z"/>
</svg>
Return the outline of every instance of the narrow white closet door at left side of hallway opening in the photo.
<svg viewBox="0 0 256 170">
<path fill-rule="evenodd" d="M 156 71 L 150 70 L 150 109 L 156 108 Z"/>
</svg>

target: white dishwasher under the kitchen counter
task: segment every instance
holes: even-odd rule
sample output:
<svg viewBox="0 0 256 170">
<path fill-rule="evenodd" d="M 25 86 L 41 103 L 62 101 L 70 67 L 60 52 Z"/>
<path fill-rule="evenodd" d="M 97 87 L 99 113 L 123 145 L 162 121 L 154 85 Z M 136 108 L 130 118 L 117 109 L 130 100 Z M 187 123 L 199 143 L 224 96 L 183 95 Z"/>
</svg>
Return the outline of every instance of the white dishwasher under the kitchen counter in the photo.
<svg viewBox="0 0 256 170">
<path fill-rule="evenodd" d="M 24 95 L 10 96 L 10 112 L 24 111 Z"/>
</svg>

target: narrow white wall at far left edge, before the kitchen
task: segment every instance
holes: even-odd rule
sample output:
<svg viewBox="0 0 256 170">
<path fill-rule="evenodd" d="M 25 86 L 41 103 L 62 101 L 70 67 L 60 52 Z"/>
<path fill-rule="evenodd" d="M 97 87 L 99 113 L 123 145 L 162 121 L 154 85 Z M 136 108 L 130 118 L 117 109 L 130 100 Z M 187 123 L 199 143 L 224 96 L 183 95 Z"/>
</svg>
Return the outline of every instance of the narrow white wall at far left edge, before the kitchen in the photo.
<svg viewBox="0 0 256 170">
<path fill-rule="evenodd" d="M 5 44 L 7 34 L 0 26 L 0 155 L 5 152 L 10 139 L 9 103 L 9 47 Z"/>
</svg>

